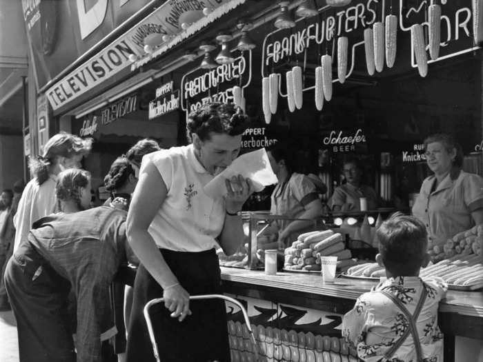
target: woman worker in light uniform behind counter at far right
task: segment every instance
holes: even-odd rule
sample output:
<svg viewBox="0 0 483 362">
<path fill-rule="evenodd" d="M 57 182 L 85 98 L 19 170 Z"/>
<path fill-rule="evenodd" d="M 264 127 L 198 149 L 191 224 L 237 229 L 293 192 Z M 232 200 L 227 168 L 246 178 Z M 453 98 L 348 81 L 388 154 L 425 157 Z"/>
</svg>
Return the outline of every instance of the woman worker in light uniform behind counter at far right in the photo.
<svg viewBox="0 0 483 362">
<path fill-rule="evenodd" d="M 449 134 L 434 134 L 424 145 L 433 175 L 423 181 L 413 215 L 426 225 L 431 249 L 483 223 L 483 178 L 462 170 L 461 146 Z"/>
</svg>

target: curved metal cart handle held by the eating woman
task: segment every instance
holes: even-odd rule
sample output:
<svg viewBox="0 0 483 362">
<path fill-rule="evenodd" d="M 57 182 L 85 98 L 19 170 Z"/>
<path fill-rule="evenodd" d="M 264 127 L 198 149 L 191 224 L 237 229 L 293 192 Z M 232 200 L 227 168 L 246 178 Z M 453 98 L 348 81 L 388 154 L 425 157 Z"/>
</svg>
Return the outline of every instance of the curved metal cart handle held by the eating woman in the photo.
<svg viewBox="0 0 483 362">
<path fill-rule="evenodd" d="M 253 353 L 255 354 L 255 361 L 258 361 L 258 347 L 257 347 L 257 341 L 255 340 L 255 335 L 253 334 L 252 327 L 250 325 L 250 320 L 248 319 L 248 313 L 245 310 L 245 307 L 237 301 L 236 299 L 231 298 L 230 296 L 226 296 L 223 294 L 202 294 L 202 295 L 191 295 L 190 300 L 196 300 L 196 299 L 224 299 L 225 301 L 229 301 L 230 303 L 238 305 L 240 310 L 242 310 L 244 319 L 245 319 L 245 324 L 246 328 L 248 328 L 248 333 L 250 334 L 250 340 L 253 345 Z M 144 319 L 146 319 L 146 324 L 148 325 L 148 332 L 149 332 L 149 338 L 152 343 L 152 349 L 155 352 L 155 358 L 157 362 L 160 362 L 159 360 L 159 352 L 157 349 L 157 343 L 155 339 L 155 332 L 152 329 L 152 323 L 151 323 L 151 318 L 149 316 L 149 309 L 152 307 L 152 305 L 155 305 L 157 303 L 162 303 L 164 302 L 164 298 L 157 298 L 157 299 L 152 299 L 144 305 Z"/>
</svg>

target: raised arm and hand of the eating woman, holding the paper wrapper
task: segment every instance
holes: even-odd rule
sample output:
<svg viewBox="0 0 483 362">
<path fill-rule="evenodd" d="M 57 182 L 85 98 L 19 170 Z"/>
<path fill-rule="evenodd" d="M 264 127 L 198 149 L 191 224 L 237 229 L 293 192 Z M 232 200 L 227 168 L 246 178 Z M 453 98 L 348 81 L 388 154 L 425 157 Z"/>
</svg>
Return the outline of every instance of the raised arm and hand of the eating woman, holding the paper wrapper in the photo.
<svg viewBox="0 0 483 362">
<path fill-rule="evenodd" d="M 226 217 L 219 236 L 219 245 L 226 255 L 235 254 L 244 241 L 242 216 L 239 211 L 253 192 L 253 183 L 241 175 L 226 180 Z"/>
</svg>

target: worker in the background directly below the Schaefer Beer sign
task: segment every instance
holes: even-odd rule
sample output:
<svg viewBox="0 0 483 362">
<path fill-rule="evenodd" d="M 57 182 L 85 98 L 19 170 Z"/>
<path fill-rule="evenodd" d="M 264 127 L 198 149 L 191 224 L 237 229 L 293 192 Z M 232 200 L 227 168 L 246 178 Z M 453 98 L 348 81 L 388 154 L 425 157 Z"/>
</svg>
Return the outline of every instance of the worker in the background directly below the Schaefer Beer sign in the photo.
<svg viewBox="0 0 483 362">
<path fill-rule="evenodd" d="M 367 200 L 367 210 L 377 208 L 377 194 L 371 186 L 364 185 L 362 165 L 358 159 L 344 161 L 342 168 L 346 183 L 335 188 L 328 206 L 335 212 L 360 211 L 360 198 Z"/>
</svg>

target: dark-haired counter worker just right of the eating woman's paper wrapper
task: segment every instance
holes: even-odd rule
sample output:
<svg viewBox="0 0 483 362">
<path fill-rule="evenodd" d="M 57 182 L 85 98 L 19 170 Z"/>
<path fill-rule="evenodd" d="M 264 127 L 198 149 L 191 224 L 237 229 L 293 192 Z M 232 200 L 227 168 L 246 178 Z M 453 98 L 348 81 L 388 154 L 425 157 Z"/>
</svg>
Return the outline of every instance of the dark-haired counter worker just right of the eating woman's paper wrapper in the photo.
<svg viewBox="0 0 483 362">
<path fill-rule="evenodd" d="M 322 201 L 319 194 L 327 191 L 319 181 L 317 186 L 305 174 L 294 172 L 296 160 L 293 150 L 286 143 L 277 142 L 267 149 L 268 159 L 278 183 L 270 197 L 270 214 L 283 215 L 293 219 L 273 222 L 266 234 L 278 233 L 278 246 L 284 248 L 297 239 L 297 234 L 313 228 L 313 221 L 322 216 Z M 275 245 L 277 248 L 277 245 Z"/>
</svg>

